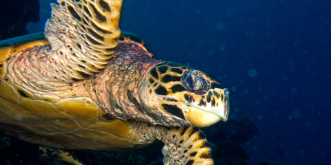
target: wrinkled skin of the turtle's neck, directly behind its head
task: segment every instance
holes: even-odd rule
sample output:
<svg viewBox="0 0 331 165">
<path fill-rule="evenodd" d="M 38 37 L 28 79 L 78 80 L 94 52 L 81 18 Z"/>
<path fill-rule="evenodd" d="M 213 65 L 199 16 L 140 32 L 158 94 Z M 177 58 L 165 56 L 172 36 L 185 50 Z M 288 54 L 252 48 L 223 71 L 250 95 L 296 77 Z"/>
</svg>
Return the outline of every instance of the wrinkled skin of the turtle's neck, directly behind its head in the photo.
<svg viewBox="0 0 331 165">
<path fill-rule="evenodd" d="M 121 44 L 122 42 L 128 44 Z M 120 41 L 110 64 L 101 74 L 91 78 L 97 101 L 108 113 L 121 120 L 134 119 L 157 124 L 154 118 L 139 113 L 128 95 L 139 98 L 139 83 L 143 82 L 150 69 L 160 62 L 155 61 L 132 41 Z"/>
</svg>

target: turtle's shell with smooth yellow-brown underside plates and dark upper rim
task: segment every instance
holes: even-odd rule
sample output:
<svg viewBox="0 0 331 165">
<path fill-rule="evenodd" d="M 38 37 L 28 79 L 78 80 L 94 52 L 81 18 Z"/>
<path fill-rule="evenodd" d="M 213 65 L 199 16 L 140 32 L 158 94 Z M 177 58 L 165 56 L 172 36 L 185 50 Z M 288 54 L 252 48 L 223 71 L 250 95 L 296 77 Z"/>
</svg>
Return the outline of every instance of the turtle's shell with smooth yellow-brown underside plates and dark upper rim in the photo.
<svg viewBox="0 0 331 165">
<path fill-rule="evenodd" d="M 36 46 L 48 46 L 41 34 L 0 48 L 0 128 L 21 140 L 64 149 L 108 150 L 134 148 L 134 122 L 108 115 L 84 89 L 84 80 L 72 84 L 66 95 L 25 89 L 7 73 L 10 58 Z M 132 36 L 133 37 L 133 36 Z M 63 91 L 65 92 L 65 91 Z"/>
</svg>

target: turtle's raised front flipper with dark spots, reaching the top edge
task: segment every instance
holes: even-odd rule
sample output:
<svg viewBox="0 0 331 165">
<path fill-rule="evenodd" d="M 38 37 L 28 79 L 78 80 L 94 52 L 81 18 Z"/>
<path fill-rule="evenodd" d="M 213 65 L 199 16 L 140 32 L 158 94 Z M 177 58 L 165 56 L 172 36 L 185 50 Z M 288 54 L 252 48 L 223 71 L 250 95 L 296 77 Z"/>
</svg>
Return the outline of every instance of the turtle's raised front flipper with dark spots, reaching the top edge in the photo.
<svg viewBox="0 0 331 165">
<path fill-rule="evenodd" d="M 45 28 L 52 50 L 46 70 L 63 83 L 92 76 L 108 65 L 115 52 L 121 30 L 119 17 L 122 0 L 71 1 L 52 4 L 52 17 Z M 50 67 L 54 63 L 54 67 Z M 52 73 L 49 73 L 52 74 Z M 52 76 L 50 76 L 52 77 Z"/>
</svg>

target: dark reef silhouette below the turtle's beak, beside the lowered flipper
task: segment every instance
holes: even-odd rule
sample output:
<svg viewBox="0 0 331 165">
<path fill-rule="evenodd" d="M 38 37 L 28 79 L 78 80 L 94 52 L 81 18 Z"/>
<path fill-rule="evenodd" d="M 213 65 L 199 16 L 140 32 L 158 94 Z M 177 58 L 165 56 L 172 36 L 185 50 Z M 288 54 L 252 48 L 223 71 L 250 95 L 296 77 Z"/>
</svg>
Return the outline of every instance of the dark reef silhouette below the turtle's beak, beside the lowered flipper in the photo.
<svg viewBox="0 0 331 165">
<path fill-rule="evenodd" d="M 242 148 L 254 135 L 257 127 L 248 118 L 219 122 L 203 132 L 212 147 L 214 164 L 243 165 L 249 155 Z"/>
</svg>

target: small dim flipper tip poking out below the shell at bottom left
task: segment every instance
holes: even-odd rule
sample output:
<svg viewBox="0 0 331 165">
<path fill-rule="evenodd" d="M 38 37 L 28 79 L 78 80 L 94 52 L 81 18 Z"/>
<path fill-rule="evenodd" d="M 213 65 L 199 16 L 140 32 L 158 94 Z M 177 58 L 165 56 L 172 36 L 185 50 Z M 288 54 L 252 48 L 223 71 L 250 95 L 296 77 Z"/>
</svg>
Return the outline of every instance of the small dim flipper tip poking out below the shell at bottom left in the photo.
<svg viewBox="0 0 331 165">
<path fill-rule="evenodd" d="M 39 151 L 43 157 L 50 159 L 52 162 L 57 162 L 59 164 L 83 165 L 83 163 L 73 157 L 69 151 L 48 148 L 46 146 L 39 146 Z"/>
</svg>

